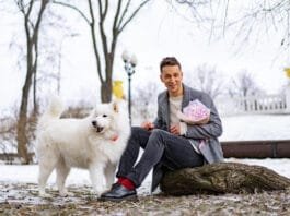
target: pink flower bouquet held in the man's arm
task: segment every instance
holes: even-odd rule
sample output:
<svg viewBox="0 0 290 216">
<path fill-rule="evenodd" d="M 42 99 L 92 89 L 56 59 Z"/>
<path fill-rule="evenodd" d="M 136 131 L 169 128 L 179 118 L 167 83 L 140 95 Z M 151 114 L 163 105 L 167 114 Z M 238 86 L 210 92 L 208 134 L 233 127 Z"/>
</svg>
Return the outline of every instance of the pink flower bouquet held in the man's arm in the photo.
<svg viewBox="0 0 290 216">
<path fill-rule="evenodd" d="M 190 124 L 204 124 L 209 121 L 210 109 L 207 108 L 201 101 L 195 99 L 183 108 L 183 112 L 178 111 L 177 117 Z"/>
</svg>

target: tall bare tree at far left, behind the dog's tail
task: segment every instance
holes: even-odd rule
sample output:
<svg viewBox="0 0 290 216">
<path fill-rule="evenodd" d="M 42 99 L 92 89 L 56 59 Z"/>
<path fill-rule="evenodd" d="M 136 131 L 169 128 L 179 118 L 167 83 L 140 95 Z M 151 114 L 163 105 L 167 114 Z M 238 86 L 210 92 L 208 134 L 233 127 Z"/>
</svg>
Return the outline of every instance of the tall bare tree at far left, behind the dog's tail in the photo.
<svg viewBox="0 0 290 216">
<path fill-rule="evenodd" d="M 15 0 L 15 3 L 23 15 L 23 24 L 26 39 L 26 77 L 22 88 L 21 105 L 18 122 L 18 154 L 23 158 L 23 164 L 28 164 L 32 158 L 27 153 L 27 107 L 32 82 L 36 82 L 37 59 L 38 59 L 38 35 L 43 14 L 49 0 L 24 1 Z"/>
</svg>

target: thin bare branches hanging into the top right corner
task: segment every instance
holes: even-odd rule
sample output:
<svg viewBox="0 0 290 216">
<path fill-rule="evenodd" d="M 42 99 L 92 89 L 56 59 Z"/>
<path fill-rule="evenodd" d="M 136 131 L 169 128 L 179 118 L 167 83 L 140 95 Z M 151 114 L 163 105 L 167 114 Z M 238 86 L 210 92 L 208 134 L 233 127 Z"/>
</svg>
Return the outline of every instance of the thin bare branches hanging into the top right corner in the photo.
<svg viewBox="0 0 290 216">
<path fill-rule="evenodd" d="M 209 24 L 210 38 L 224 36 L 233 29 L 235 40 L 242 48 L 250 37 L 257 44 L 262 36 L 278 34 L 280 46 L 288 50 L 290 46 L 290 1 L 288 0 L 175 0 L 182 7 L 188 7 L 194 22 Z M 171 1 L 173 4 L 173 2 Z M 205 13 L 206 11 L 206 13 Z M 289 57 L 288 57 L 289 58 Z"/>
</svg>

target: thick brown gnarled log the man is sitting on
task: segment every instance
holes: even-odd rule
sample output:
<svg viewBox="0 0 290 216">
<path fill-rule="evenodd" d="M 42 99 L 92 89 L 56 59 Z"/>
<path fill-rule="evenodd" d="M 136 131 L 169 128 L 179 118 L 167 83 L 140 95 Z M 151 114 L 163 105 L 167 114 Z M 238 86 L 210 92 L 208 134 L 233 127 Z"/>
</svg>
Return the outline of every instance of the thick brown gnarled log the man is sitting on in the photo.
<svg viewBox="0 0 290 216">
<path fill-rule="evenodd" d="M 287 188 L 290 188 L 290 179 L 265 167 L 237 163 L 169 171 L 161 181 L 161 190 L 171 195 L 254 193 Z"/>
</svg>

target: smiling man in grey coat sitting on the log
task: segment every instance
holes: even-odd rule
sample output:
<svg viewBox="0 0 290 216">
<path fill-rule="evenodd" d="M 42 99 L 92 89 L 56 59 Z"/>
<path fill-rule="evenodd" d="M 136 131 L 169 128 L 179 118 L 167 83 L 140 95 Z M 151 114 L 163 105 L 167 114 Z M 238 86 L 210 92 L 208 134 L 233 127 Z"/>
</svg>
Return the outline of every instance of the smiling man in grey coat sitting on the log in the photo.
<svg viewBox="0 0 290 216">
<path fill-rule="evenodd" d="M 118 181 L 101 201 L 123 201 L 137 197 L 136 188 L 153 168 L 152 191 L 158 187 L 164 170 L 198 167 L 205 163 L 223 160 L 218 136 L 222 133 L 221 120 L 212 99 L 205 93 L 183 84 L 181 63 L 174 57 L 160 63 L 160 79 L 167 88 L 158 97 L 158 117 L 153 123 L 134 127 L 131 137 L 121 156 Z M 176 113 L 189 101 L 198 99 L 210 109 L 206 124 L 181 122 Z M 139 149 L 144 149 L 140 160 Z"/>
</svg>

